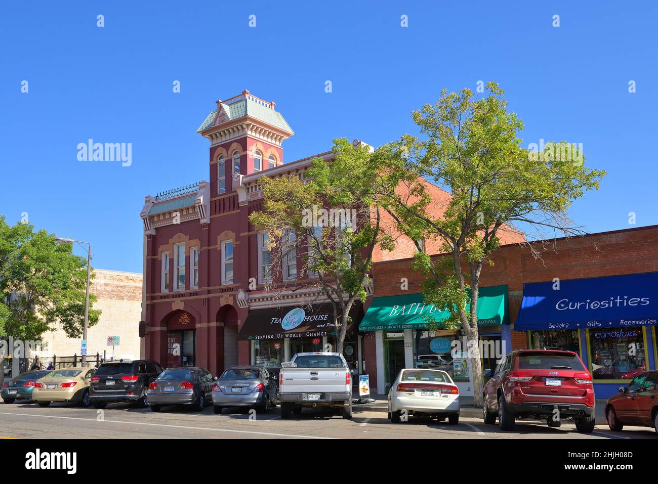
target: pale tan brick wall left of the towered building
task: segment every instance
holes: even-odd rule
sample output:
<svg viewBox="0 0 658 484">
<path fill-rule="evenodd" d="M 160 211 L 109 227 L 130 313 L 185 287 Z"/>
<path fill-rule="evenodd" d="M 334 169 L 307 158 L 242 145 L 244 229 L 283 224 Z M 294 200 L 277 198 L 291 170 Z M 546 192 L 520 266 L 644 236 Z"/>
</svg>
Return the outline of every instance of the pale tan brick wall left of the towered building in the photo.
<svg viewBox="0 0 658 484">
<path fill-rule="evenodd" d="M 112 347 L 107 346 L 108 336 L 120 337 L 120 345 L 114 349 L 115 358 L 139 358 L 139 317 L 141 315 L 141 274 L 96 269 L 90 291 L 98 299 L 93 308 L 100 309 L 99 322 L 88 331 L 88 356 L 96 352 L 107 358 Z M 70 339 L 63 329 L 47 331 L 42 335 L 47 345 L 39 353 L 41 363 L 47 364 L 53 354 L 57 356 L 80 355 L 80 339 Z"/>
</svg>

